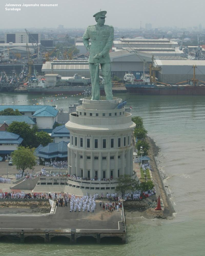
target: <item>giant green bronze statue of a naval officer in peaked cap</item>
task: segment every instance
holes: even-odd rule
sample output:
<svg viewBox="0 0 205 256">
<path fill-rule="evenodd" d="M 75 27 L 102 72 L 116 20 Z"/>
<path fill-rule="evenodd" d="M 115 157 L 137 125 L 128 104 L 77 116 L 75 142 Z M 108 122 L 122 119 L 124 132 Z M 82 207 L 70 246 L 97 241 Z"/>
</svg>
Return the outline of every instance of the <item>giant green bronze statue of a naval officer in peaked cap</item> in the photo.
<svg viewBox="0 0 205 256">
<path fill-rule="evenodd" d="M 94 14 L 93 17 L 95 17 L 97 24 L 88 26 L 83 34 L 83 43 L 90 52 L 88 62 L 92 84 L 92 100 L 100 99 L 99 65 L 104 79 L 106 100 L 112 100 L 113 98 L 109 51 L 113 45 L 114 28 L 104 25 L 106 13 L 106 11 L 100 11 Z M 91 45 L 89 45 L 89 39 Z"/>
</svg>

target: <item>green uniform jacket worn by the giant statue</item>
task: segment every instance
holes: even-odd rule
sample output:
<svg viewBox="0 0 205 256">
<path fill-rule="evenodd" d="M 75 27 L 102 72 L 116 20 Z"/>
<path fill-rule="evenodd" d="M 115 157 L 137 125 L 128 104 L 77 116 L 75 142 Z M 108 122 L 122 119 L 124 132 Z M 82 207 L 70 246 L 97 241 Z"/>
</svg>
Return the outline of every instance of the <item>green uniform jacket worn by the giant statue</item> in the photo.
<svg viewBox="0 0 205 256">
<path fill-rule="evenodd" d="M 89 63 L 110 63 L 109 51 L 112 48 L 114 40 L 114 28 L 112 26 L 103 25 L 102 27 L 90 25 L 83 34 L 83 43 L 85 47 L 89 45 L 91 39 Z M 103 57 L 94 59 L 97 53 L 102 53 Z"/>
</svg>

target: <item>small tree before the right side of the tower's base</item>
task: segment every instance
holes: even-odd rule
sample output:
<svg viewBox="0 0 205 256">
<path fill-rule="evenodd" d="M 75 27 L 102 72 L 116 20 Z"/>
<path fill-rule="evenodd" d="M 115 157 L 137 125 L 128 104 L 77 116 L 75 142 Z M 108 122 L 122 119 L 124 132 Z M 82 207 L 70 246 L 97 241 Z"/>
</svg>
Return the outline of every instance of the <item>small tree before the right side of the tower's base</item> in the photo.
<svg viewBox="0 0 205 256">
<path fill-rule="evenodd" d="M 125 194 L 125 191 L 132 190 L 136 186 L 136 180 L 132 179 L 128 174 L 120 175 L 117 179 L 118 185 L 116 191 Z"/>
</svg>

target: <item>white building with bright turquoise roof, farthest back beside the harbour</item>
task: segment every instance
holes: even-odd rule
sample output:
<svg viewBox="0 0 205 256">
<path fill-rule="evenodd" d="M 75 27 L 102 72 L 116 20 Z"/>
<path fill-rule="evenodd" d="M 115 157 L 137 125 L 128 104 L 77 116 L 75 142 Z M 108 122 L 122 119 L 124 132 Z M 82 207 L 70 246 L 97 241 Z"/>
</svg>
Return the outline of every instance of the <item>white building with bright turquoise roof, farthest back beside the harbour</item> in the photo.
<svg viewBox="0 0 205 256">
<path fill-rule="evenodd" d="M 3 105 L 0 106 L 0 111 L 7 108 L 18 109 L 22 115 L 32 118 L 39 131 L 51 133 L 53 125 L 57 122 L 58 110 L 49 105 Z"/>
</svg>

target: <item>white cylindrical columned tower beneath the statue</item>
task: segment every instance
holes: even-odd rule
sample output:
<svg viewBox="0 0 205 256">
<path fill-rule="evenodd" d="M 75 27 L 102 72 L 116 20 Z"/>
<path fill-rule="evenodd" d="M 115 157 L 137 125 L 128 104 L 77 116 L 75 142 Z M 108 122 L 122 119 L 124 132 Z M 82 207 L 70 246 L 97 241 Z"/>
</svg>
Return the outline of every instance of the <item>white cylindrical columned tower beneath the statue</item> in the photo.
<svg viewBox="0 0 205 256">
<path fill-rule="evenodd" d="M 135 123 L 119 98 L 83 99 L 66 123 L 70 131 L 68 173 L 82 178 L 116 180 L 133 175 Z"/>
</svg>

